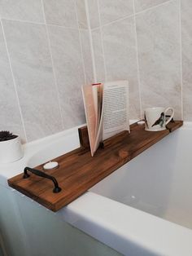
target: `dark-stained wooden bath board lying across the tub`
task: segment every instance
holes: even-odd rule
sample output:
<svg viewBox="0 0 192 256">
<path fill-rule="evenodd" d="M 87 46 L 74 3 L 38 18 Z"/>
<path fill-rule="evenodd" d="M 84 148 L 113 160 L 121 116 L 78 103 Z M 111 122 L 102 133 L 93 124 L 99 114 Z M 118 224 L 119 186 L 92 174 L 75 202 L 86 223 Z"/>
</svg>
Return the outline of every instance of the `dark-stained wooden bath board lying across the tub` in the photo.
<svg viewBox="0 0 192 256">
<path fill-rule="evenodd" d="M 87 129 L 82 127 L 79 129 L 81 148 L 55 158 L 59 168 L 46 171 L 43 165 L 35 168 L 54 176 L 61 188 L 60 192 L 53 192 L 52 180 L 35 174 L 25 177 L 28 179 L 23 178 L 24 174 L 19 174 L 8 179 L 8 184 L 46 208 L 57 211 L 182 124 L 183 121 L 170 122 L 168 130 L 151 132 L 135 123 L 131 125 L 130 134 L 124 131 L 105 140 L 94 157 L 90 155 Z"/>
</svg>

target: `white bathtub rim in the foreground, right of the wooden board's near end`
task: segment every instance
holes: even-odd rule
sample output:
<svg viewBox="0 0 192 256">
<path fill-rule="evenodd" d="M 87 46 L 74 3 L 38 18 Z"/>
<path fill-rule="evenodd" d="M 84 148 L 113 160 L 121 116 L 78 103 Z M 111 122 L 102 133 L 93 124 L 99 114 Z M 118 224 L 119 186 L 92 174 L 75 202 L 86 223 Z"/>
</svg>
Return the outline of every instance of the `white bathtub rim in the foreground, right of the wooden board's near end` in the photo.
<svg viewBox="0 0 192 256">
<path fill-rule="evenodd" d="M 138 246 L 136 255 L 191 256 L 192 230 L 189 228 L 94 192 L 86 192 L 57 214 L 72 226 L 124 255 L 132 255 L 132 249 Z M 124 218 L 126 223 L 122 222 Z M 161 240 L 162 236 L 164 240 Z"/>
</svg>

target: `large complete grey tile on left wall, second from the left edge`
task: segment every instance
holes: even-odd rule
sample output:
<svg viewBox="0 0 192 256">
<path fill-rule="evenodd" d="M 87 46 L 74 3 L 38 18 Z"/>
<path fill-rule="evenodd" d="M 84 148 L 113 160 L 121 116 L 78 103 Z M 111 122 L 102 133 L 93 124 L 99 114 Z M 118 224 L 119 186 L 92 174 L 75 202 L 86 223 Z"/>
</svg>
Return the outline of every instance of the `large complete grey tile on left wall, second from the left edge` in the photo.
<svg viewBox="0 0 192 256">
<path fill-rule="evenodd" d="M 45 25 L 3 20 L 28 141 L 62 130 Z"/>
</svg>

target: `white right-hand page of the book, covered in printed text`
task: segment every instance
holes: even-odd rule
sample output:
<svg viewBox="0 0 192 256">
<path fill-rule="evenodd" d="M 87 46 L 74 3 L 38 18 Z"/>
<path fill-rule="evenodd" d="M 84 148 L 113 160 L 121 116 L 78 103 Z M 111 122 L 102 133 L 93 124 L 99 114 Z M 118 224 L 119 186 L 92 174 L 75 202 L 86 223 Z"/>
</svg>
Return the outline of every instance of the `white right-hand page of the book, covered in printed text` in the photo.
<svg viewBox="0 0 192 256">
<path fill-rule="evenodd" d="M 106 82 L 103 87 L 103 139 L 129 130 L 129 83 Z"/>
</svg>

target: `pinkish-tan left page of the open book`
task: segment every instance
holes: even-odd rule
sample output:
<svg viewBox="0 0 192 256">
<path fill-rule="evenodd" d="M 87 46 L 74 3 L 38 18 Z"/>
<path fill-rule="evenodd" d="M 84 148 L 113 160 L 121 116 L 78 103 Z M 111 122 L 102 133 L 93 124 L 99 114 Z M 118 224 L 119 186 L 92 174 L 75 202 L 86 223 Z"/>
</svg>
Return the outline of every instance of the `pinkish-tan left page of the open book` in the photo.
<svg viewBox="0 0 192 256">
<path fill-rule="evenodd" d="M 87 129 L 89 134 L 89 144 L 91 155 L 94 155 L 95 144 L 95 126 L 96 126 L 96 112 L 94 106 L 94 94 L 92 86 L 82 86 L 83 100 L 85 106 L 85 117 L 87 122 Z"/>
</svg>

